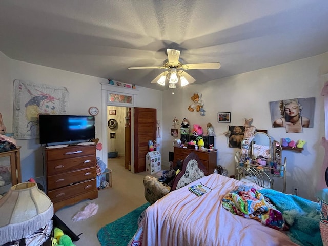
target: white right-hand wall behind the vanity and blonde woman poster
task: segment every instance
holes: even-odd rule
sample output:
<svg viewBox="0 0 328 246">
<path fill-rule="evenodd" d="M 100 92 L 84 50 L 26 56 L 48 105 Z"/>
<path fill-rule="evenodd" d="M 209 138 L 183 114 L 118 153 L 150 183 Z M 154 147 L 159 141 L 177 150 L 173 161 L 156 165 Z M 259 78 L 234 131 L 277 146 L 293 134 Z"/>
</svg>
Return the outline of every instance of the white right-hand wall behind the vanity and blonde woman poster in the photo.
<svg viewBox="0 0 328 246">
<path fill-rule="evenodd" d="M 222 68 L 224 69 L 224 65 Z M 292 193 L 297 186 L 300 196 L 315 200 L 317 181 L 320 173 L 324 149 L 320 145 L 324 135 L 324 105 L 320 96 L 324 84 L 322 74 L 328 72 L 328 53 L 293 61 L 266 69 L 239 74 L 208 83 L 188 85 L 177 89 L 172 95 L 170 90 L 163 93 L 163 160 L 168 160 L 169 151 L 173 151 L 170 129 L 172 120 L 177 117 L 180 122 L 187 117 L 192 127 L 200 124 L 206 130 L 211 122 L 218 149 L 218 165 L 234 175 L 234 155 L 238 149 L 228 148 L 227 138 L 223 135 L 228 125 L 243 125 L 244 118 L 253 118 L 253 125 L 258 129 L 268 130 L 273 139 L 289 137 L 292 140 L 304 139 L 307 143 L 302 153 L 283 151 L 287 157 L 287 192 Z M 206 116 L 188 111 L 192 103 L 190 97 L 194 92 L 201 92 Z M 298 97 L 315 97 L 315 122 L 313 128 L 303 128 L 303 133 L 286 133 L 285 128 L 273 128 L 271 124 L 269 102 Z M 218 112 L 231 112 L 231 123 L 218 123 Z M 279 180 L 275 185 L 281 187 Z M 281 182 L 281 180 L 280 180 Z"/>
</svg>

